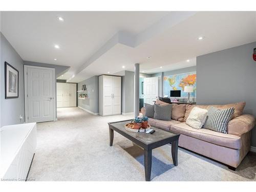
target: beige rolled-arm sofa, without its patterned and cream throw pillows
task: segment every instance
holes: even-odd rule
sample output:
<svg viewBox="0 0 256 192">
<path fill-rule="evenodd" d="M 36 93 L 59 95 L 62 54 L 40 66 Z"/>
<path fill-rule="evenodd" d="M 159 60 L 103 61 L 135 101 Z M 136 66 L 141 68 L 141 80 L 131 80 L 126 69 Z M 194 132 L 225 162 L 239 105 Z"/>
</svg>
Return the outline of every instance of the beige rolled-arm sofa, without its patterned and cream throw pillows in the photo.
<svg viewBox="0 0 256 192">
<path fill-rule="evenodd" d="M 164 104 L 156 101 L 156 104 Z M 166 104 L 166 103 L 165 103 Z M 208 158 L 222 162 L 232 170 L 235 170 L 250 150 L 251 129 L 255 125 L 255 118 L 249 114 L 243 114 L 245 102 L 226 105 L 190 105 L 172 104 L 172 120 L 163 121 L 149 118 L 148 123 L 165 131 L 180 134 L 179 146 L 196 152 Z M 234 107 L 234 115 L 227 126 L 227 133 L 219 133 L 207 129 L 194 129 L 186 124 L 186 118 L 190 111 L 198 106 L 209 109 L 214 106 L 218 109 Z M 144 114 L 145 109 L 141 109 Z"/>
</svg>

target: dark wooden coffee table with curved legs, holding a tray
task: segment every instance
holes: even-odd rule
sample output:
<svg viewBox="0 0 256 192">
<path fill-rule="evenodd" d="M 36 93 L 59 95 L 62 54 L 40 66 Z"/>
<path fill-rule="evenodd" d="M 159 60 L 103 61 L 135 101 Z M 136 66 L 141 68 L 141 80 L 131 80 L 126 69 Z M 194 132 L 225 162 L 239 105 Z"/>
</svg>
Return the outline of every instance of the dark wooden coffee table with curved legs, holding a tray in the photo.
<svg viewBox="0 0 256 192">
<path fill-rule="evenodd" d="M 132 120 L 132 119 L 131 119 Z M 151 180 L 151 164 L 152 164 L 152 150 L 154 148 L 172 143 L 172 157 L 174 165 L 178 165 L 178 141 L 180 134 L 172 133 L 157 129 L 151 126 L 151 129 L 155 130 L 153 134 L 130 132 L 125 130 L 124 125 L 130 123 L 131 120 L 117 121 L 109 123 L 110 131 L 110 146 L 113 145 L 114 131 L 136 143 L 144 149 L 144 168 L 145 168 L 145 180 Z"/>
</svg>

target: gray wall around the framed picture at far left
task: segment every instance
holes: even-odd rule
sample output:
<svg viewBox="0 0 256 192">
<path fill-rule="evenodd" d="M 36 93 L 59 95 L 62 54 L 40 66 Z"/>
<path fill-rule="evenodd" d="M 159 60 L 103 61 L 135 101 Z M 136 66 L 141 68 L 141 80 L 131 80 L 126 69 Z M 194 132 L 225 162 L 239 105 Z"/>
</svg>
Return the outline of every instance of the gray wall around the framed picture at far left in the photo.
<svg viewBox="0 0 256 192">
<path fill-rule="evenodd" d="M 8 40 L 1 35 L 1 126 L 23 123 L 24 109 L 24 68 L 23 60 Z M 18 98 L 5 99 L 5 61 L 18 70 Z M 19 120 L 23 116 L 23 121 Z"/>
</svg>

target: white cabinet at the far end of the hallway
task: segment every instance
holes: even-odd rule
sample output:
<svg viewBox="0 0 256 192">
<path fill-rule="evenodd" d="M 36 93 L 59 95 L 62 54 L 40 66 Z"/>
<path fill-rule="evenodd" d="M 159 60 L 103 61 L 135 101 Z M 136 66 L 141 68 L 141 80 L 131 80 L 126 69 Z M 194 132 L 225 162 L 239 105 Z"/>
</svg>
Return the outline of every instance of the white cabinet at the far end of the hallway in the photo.
<svg viewBox="0 0 256 192">
<path fill-rule="evenodd" d="M 57 82 L 57 108 L 76 106 L 76 83 Z"/>
</svg>

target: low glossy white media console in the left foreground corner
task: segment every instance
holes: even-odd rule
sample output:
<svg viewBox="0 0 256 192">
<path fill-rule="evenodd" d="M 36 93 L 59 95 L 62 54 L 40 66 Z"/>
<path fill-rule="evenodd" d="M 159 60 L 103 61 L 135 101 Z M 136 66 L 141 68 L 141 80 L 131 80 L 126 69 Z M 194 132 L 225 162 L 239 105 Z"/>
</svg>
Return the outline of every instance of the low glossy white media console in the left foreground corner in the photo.
<svg viewBox="0 0 256 192">
<path fill-rule="evenodd" d="M 2 181 L 25 181 L 36 148 L 36 123 L 1 127 Z"/>
</svg>

